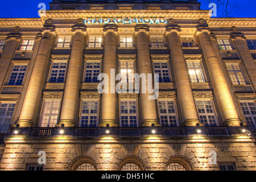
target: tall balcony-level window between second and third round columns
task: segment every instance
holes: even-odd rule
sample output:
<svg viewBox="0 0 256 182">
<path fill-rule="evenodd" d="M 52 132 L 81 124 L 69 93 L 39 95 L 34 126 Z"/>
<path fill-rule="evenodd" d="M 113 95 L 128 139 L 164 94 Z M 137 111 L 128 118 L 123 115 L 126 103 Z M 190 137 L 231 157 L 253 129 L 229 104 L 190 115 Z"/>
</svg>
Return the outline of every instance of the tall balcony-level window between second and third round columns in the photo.
<svg viewBox="0 0 256 182">
<path fill-rule="evenodd" d="M 98 101 L 82 101 L 81 127 L 97 127 Z"/>
</svg>

